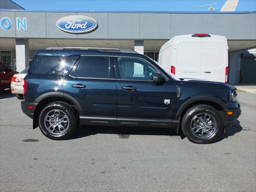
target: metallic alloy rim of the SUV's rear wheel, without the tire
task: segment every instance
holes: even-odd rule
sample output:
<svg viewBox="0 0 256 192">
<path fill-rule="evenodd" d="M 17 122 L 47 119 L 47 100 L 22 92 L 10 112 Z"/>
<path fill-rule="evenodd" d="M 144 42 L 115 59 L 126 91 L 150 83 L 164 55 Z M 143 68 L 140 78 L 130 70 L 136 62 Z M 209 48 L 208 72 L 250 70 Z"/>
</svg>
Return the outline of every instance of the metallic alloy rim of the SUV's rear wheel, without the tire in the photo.
<svg viewBox="0 0 256 192">
<path fill-rule="evenodd" d="M 50 133 L 60 135 L 68 130 L 69 119 L 64 111 L 51 110 L 44 118 L 44 125 Z"/>
</svg>

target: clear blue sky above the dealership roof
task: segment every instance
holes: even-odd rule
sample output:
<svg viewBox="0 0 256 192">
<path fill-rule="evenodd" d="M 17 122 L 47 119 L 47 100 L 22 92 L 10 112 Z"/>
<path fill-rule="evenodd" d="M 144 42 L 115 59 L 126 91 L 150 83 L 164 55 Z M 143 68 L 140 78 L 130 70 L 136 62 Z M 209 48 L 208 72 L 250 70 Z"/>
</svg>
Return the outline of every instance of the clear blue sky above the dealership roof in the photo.
<svg viewBox="0 0 256 192">
<path fill-rule="evenodd" d="M 215 11 L 226 0 L 12 0 L 26 10 L 69 11 L 208 11 L 204 4 L 217 3 Z M 239 0 L 236 11 L 256 11 L 256 0 Z"/>
</svg>

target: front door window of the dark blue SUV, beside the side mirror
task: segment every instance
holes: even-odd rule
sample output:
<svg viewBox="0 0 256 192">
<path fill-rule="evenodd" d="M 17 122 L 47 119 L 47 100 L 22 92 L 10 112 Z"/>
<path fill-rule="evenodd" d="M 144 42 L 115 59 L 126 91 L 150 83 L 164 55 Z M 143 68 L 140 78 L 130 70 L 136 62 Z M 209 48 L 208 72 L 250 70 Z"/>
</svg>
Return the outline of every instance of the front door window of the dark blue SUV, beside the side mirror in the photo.
<svg viewBox="0 0 256 192">
<path fill-rule="evenodd" d="M 126 80 L 152 80 L 158 70 L 139 58 L 118 57 L 118 66 L 121 79 Z"/>
</svg>

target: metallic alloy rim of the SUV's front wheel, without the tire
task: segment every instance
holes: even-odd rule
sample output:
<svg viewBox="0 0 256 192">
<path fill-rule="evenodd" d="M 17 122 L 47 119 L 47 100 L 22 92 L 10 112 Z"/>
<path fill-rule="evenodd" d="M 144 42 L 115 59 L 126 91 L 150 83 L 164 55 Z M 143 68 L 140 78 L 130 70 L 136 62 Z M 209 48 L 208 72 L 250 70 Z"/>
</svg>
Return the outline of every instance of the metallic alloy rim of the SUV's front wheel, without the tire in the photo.
<svg viewBox="0 0 256 192">
<path fill-rule="evenodd" d="M 200 113 L 192 118 L 190 128 L 192 133 L 198 138 L 208 138 L 216 132 L 217 124 L 212 115 Z"/>
</svg>

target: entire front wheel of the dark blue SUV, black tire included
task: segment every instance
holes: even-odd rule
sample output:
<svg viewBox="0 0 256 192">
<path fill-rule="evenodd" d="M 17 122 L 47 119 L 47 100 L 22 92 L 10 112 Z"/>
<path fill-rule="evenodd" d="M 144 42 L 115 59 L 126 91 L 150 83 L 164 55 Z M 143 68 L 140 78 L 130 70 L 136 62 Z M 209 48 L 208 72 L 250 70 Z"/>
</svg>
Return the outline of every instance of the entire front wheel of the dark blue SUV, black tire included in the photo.
<svg viewBox="0 0 256 192">
<path fill-rule="evenodd" d="M 203 123 L 205 114 L 206 118 L 211 117 L 210 120 L 205 120 L 205 122 L 208 123 Z M 204 125 L 201 125 L 201 123 Z M 223 121 L 220 113 L 215 108 L 208 105 L 194 106 L 190 108 L 182 118 L 182 131 L 188 140 L 193 143 L 209 144 L 216 142 L 222 134 L 222 130 Z"/>
</svg>

